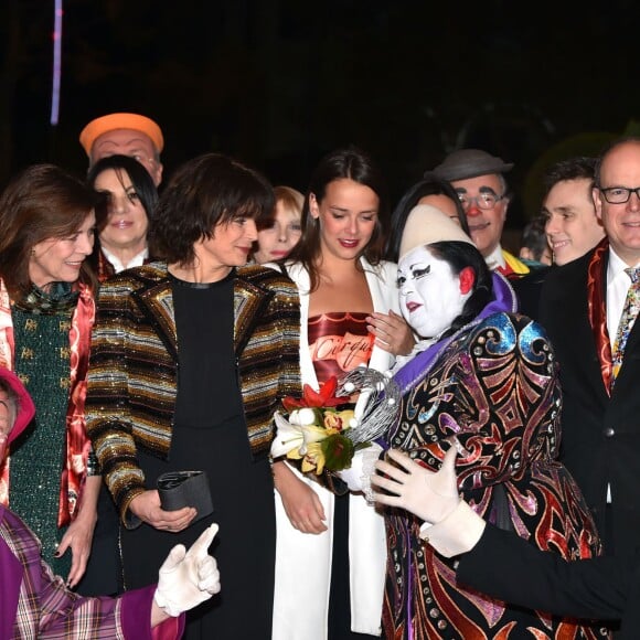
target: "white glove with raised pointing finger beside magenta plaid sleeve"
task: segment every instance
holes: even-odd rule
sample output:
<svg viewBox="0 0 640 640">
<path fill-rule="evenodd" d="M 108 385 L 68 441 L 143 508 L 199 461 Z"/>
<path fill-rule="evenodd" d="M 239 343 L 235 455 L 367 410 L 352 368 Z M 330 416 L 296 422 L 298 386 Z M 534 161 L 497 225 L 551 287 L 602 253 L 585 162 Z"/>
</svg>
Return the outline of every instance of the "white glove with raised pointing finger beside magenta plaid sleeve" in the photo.
<svg viewBox="0 0 640 640">
<path fill-rule="evenodd" d="M 217 529 L 214 522 L 189 551 L 177 544 L 162 563 L 153 599 L 169 616 L 175 618 L 220 591 L 217 563 L 209 555 Z"/>
</svg>

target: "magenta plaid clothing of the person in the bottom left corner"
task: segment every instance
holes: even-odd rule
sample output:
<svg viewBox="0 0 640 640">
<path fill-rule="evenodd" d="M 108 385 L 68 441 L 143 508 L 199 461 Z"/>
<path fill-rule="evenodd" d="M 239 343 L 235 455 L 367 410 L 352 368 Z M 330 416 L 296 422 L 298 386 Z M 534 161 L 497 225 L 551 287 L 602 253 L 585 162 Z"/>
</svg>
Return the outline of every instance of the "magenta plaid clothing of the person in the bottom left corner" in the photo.
<svg viewBox="0 0 640 640">
<path fill-rule="evenodd" d="M 24 522 L 0 506 L 0 638 L 174 640 L 182 636 L 183 615 L 151 629 L 156 585 L 117 598 L 86 598 L 53 575 L 40 550 L 40 541 Z"/>
</svg>

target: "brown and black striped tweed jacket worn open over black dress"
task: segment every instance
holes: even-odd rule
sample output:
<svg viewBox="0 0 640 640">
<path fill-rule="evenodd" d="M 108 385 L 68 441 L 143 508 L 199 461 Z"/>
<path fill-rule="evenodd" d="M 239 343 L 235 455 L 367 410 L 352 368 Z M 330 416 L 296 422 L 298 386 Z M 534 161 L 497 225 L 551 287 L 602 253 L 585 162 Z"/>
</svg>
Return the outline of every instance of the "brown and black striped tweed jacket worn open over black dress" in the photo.
<svg viewBox="0 0 640 640">
<path fill-rule="evenodd" d="M 267 456 L 273 415 L 285 395 L 300 395 L 300 305 L 296 285 L 260 265 L 236 269 L 236 366 L 254 456 Z M 87 431 L 103 476 L 128 527 L 146 490 L 138 448 L 164 458 L 171 445 L 178 384 L 178 337 L 164 263 L 128 269 L 98 298 L 86 399 Z"/>
</svg>

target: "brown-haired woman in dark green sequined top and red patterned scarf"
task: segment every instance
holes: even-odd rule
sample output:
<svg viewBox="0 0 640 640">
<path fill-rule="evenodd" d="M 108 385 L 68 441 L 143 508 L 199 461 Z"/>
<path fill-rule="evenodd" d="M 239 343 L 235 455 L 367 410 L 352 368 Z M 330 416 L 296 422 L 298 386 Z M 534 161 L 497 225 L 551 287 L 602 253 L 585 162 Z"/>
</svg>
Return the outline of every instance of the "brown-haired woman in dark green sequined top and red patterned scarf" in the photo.
<svg viewBox="0 0 640 640">
<path fill-rule="evenodd" d="M 53 164 L 29 167 L 0 196 L 0 365 L 36 407 L 0 461 L 0 502 L 26 518 L 71 587 L 86 568 L 100 483 L 84 419 L 98 199 Z"/>
</svg>

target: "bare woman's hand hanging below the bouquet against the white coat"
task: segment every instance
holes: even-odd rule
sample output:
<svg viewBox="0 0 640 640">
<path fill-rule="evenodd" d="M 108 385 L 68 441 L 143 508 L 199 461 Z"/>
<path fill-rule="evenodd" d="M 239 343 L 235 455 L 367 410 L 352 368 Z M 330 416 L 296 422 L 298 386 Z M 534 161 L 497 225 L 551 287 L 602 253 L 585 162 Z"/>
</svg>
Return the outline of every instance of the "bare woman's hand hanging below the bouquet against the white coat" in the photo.
<svg viewBox="0 0 640 640">
<path fill-rule="evenodd" d="M 284 461 L 274 462 L 274 484 L 294 529 L 302 533 L 327 531 L 324 509 L 320 498 Z"/>
</svg>

